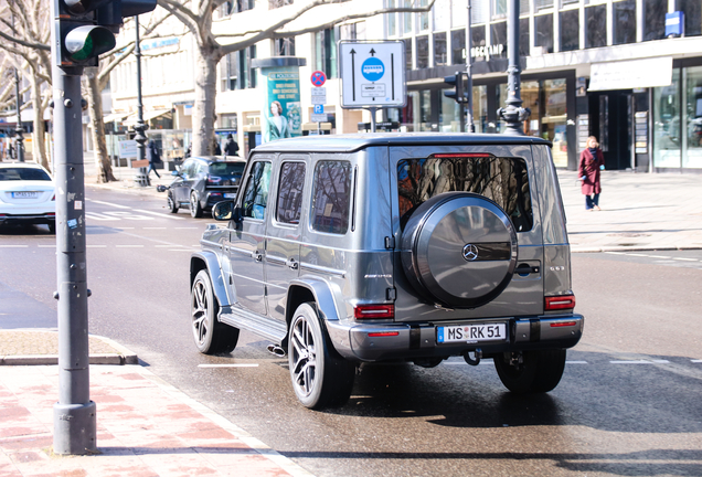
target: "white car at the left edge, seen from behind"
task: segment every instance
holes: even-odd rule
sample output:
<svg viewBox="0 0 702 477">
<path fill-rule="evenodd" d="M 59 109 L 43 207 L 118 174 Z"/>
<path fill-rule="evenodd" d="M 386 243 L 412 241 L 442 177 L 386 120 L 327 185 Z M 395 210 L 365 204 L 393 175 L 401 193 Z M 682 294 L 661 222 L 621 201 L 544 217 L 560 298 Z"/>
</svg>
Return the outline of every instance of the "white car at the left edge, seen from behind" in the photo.
<svg viewBox="0 0 702 477">
<path fill-rule="evenodd" d="M 56 194 L 46 169 L 34 162 L 0 162 L 0 225 L 45 224 L 56 232 Z"/>
</svg>

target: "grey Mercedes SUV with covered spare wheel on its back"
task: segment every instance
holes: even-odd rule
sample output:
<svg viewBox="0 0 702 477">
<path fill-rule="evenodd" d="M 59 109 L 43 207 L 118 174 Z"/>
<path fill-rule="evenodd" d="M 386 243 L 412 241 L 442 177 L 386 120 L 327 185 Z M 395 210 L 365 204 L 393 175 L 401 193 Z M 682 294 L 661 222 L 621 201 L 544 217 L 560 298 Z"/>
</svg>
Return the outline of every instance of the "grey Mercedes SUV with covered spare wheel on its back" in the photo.
<svg viewBox="0 0 702 477">
<path fill-rule="evenodd" d="M 563 374 L 584 318 L 551 144 L 397 134 L 279 140 L 248 159 L 235 201 L 191 257 L 203 353 L 240 329 L 288 356 L 307 407 L 348 400 L 355 367 L 492 358 L 517 393 Z"/>
</svg>

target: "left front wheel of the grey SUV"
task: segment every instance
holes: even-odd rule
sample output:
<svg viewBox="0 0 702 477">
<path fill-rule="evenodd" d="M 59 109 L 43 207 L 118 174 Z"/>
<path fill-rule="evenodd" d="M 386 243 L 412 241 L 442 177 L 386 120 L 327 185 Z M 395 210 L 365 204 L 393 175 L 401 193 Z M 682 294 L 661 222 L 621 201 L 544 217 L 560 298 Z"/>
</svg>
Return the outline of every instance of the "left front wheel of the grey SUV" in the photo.
<svg viewBox="0 0 702 477">
<path fill-rule="evenodd" d="M 203 354 L 226 354 L 234 351 L 238 341 L 238 328 L 221 324 L 216 319 L 220 305 L 212 292 L 208 271 L 195 276 L 190 293 L 190 315 L 195 347 Z"/>
</svg>

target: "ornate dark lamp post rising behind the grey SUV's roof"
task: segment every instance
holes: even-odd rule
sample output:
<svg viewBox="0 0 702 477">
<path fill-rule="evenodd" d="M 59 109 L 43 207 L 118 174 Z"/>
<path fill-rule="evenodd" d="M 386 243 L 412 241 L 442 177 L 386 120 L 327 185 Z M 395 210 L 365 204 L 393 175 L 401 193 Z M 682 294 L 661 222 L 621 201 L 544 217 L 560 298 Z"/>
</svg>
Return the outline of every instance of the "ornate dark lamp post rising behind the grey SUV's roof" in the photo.
<svg viewBox="0 0 702 477">
<path fill-rule="evenodd" d="M 521 96 L 521 70 L 519 67 L 519 0 L 509 0 L 507 11 L 507 55 L 509 56 L 509 67 L 507 70 L 507 104 L 498 109 L 507 128 L 504 134 L 523 136 L 525 121 L 531 115 L 531 109 L 522 107 Z"/>
</svg>

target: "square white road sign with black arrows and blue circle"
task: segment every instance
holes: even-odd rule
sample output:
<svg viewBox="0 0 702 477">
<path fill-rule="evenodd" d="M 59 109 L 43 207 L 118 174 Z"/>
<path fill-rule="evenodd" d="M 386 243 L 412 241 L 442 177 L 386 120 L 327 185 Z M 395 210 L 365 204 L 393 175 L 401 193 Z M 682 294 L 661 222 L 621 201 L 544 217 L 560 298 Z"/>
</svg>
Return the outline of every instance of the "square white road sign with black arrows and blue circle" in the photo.
<svg viewBox="0 0 702 477">
<path fill-rule="evenodd" d="M 406 103 L 402 41 L 340 41 L 341 107 L 403 107 Z"/>
</svg>

